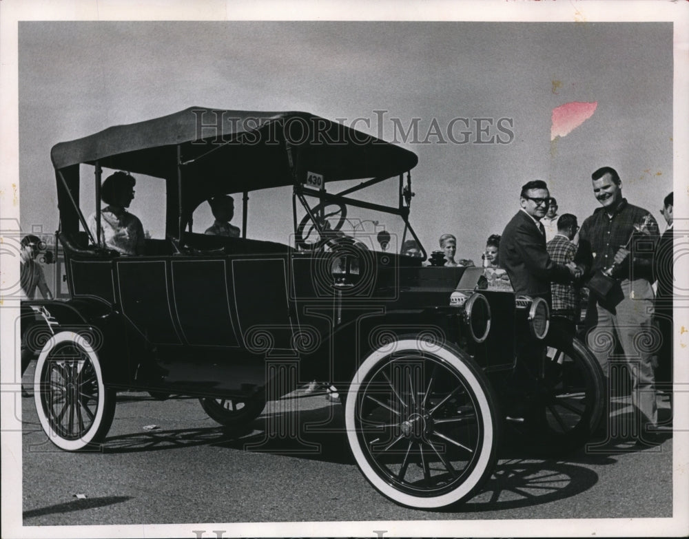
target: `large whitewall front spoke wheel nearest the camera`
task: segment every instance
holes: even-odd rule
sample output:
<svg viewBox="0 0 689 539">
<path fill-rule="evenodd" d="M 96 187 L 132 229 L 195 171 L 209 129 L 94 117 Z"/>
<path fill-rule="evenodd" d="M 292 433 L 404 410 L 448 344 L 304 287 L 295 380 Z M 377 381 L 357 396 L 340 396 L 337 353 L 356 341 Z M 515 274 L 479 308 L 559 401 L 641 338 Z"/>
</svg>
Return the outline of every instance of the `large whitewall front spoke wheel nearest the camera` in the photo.
<svg viewBox="0 0 689 539">
<path fill-rule="evenodd" d="M 345 421 L 362 473 L 400 505 L 452 505 L 495 467 L 497 401 L 480 367 L 447 345 L 402 339 L 372 352 L 354 377 Z"/>
</svg>

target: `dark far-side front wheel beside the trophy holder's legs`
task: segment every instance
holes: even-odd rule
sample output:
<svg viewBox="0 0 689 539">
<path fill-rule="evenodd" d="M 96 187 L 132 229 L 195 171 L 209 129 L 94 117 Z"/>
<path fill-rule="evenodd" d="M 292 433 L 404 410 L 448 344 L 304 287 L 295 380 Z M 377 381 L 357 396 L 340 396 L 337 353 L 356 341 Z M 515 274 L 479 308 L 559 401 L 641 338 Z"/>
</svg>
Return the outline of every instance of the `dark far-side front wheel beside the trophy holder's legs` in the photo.
<svg viewBox="0 0 689 539">
<path fill-rule="evenodd" d="M 520 430 L 531 450 L 557 454 L 581 447 L 596 430 L 605 409 L 605 379 L 578 339 L 551 330 L 545 343 L 543 368 L 528 369 L 535 394 L 527 397 Z"/>
</svg>

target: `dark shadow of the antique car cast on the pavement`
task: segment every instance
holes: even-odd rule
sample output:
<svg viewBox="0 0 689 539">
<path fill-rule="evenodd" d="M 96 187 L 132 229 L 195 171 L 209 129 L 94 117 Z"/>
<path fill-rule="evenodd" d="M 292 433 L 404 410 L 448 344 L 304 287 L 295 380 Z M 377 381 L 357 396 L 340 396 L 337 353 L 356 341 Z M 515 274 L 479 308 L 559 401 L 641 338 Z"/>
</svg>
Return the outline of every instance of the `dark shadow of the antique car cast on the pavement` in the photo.
<svg viewBox="0 0 689 539">
<path fill-rule="evenodd" d="M 340 405 L 296 408 L 280 408 L 279 401 L 271 402 L 263 414 L 243 430 L 218 425 L 109 436 L 101 450 L 106 454 L 119 454 L 211 445 L 227 450 L 355 465 Z M 586 492 L 599 480 L 598 474 L 587 465 L 601 464 L 601 459 L 604 463 L 614 462 L 610 456 L 589 456 L 584 450 L 562 458 L 534 457 L 513 438 L 506 438 L 495 470 L 482 489 L 459 507 L 440 512 L 461 514 L 519 509 L 571 498 Z"/>
</svg>

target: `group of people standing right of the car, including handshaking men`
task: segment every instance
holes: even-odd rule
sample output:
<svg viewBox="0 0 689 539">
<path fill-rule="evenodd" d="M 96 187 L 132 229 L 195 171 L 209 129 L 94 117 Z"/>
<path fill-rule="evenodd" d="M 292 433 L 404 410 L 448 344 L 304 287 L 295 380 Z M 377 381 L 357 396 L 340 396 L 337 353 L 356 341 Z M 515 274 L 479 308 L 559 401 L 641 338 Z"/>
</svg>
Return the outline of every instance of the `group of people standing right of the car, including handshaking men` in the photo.
<svg viewBox="0 0 689 539">
<path fill-rule="evenodd" d="M 558 326 L 586 341 L 606 377 L 610 355 L 622 358 L 641 437 L 648 443 L 663 430 L 657 390 L 672 398 L 673 195 L 663 200 L 660 213 L 667 228 L 660 235 L 652 214 L 622 196 L 615 169 L 598 169 L 591 182 L 600 207 L 582 226 L 576 215 L 558 213 L 546 182 L 524 184 L 520 211 L 502 235 L 488 237 L 482 266 L 491 272 L 487 268 L 503 268 L 516 295 L 545 299 Z M 441 235 L 439 244 L 431 264 L 473 266 L 471 260 L 455 260 L 454 235 Z M 660 335 L 659 346 L 639 348 L 639 335 L 648 341 Z"/>
</svg>

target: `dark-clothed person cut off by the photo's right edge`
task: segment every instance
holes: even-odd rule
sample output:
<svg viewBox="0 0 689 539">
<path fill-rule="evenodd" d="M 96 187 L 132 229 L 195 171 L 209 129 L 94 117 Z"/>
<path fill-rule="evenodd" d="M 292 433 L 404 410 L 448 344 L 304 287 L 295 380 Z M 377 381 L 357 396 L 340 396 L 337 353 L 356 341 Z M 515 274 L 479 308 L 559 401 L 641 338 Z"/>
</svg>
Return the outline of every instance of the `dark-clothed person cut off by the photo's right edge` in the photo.
<svg viewBox="0 0 689 539">
<path fill-rule="evenodd" d="M 672 239 L 674 234 L 672 213 L 674 202 L 673 193 L 667 195 L 663 201 L 661 213 L 668 227 L 661 235 L 653 257 L 653 273 L 657 280 L 655 319 L 662 339 L 655 379 L 657 383 L 665 385 L 668 390 L 672 383 Z"/>
</svg>

